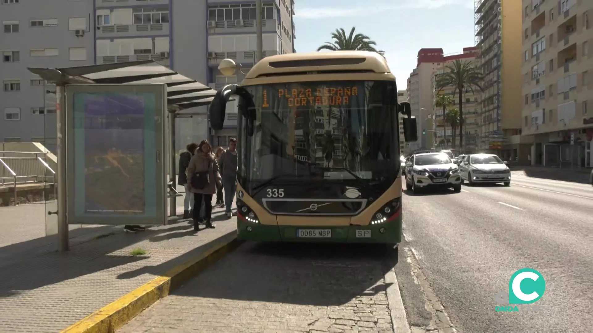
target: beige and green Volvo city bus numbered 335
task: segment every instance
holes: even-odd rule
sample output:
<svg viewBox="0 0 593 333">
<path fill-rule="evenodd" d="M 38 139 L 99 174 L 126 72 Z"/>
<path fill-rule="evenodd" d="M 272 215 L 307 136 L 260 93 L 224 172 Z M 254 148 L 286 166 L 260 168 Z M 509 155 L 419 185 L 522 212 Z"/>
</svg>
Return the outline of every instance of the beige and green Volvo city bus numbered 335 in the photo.
<svg viewBox="0 0 593 333">
<path fill-rule="evenodd" d="M 409 103 L 397 102 L 395 76 L 381 55 L 265 57 L 240 85 L 216 92 L 214 130 L 223 128 L 231 97 L 238 104 L 239 239 L 374 243 L 397 251 L 398 117 L 407 116 L 406 142 L 417 141 L 416 119 Z"/>
</svg>

